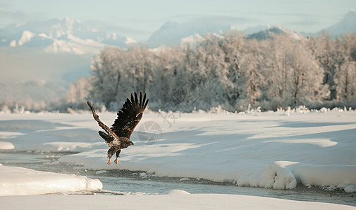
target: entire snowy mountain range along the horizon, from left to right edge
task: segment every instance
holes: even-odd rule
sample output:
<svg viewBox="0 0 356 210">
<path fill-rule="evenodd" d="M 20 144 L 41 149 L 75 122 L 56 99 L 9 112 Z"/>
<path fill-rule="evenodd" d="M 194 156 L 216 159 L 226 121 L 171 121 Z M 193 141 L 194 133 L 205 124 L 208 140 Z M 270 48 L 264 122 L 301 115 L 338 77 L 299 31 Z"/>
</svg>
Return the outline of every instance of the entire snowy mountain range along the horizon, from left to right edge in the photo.
<svg viewBox="0 0 356 210">
<path fill-rule="evenodd" d="M 219 34 L 221 31 L 233 29 L 231 24 L 221 21 L 202 22 L 165 22 L 153 32 L 151 37 L 140 44 L 149 48 L 160 45 L 174 46 L 187 41 L 196 41 L 206 32 Z M 346 32 L 356 32 L 356 13 L 350 10 L 342 20 L 315 34 L 298 33 L 285 27 L 258 25 L 247 27 L 243 32 L 247 38 L 271 38 L 273 34 L 289 34 L 294 38 L 301 36 L 319 36 L 325 31 L 332 37 L 340 36 Z M 303 35 L 301 35 L 303 34 Z M 0 47 L 2 48 L 34 48 L 46 53 L 71 53 L 76 55 L 97 55 L 105 45 L 114 45 L 128 48 L 135 40 L 111 31 L 102 31 L 84 25 L 76 18 L 55 18 L 46 21 L 32 21 L 22 24 L 8 25 L 0 29 Z"/>
</svg>

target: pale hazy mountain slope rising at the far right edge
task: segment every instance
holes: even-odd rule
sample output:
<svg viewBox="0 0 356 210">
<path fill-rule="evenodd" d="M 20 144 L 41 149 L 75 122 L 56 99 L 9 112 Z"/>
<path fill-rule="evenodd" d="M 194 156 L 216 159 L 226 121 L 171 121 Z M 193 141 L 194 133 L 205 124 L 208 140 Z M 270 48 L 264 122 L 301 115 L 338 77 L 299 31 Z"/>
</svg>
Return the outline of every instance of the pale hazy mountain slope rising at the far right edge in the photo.
<svg viewBox="0 0 356 210">
<path fill-rule="evenodd" d="M 327 32 L 332 37 L 337 37 L 346 33 L 356 33 L 356 11 L 350 10 L 342 20 L 337 22 L 327 29 L 322 29 L 322 31 Z M 319 35 L 322 31 L 319 31 Z"/>
</svg>

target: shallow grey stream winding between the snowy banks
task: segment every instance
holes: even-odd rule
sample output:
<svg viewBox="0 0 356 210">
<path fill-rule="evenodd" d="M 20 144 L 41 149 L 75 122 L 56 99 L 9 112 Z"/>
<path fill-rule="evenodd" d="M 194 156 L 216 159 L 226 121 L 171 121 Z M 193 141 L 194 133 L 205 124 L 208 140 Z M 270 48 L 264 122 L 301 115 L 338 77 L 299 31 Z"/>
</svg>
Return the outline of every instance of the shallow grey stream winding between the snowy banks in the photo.
<svg viewBox="0 0 356 210">
<path fill-rule="evenodd" d="M 312 202 L 329 202 L 347 204 L 356 207 L 356 193 L 345 193 L 343 190 L 325 190 L 320 187 L 306 188 L 297 186 L 293 190 L 274 190 L 265 188 L 251 188 L 235 186 L 231 182 L 216 183 L 204 179 L 182 179 L 182 177 L 159 177 L 154 174 L 142 176 L 144 172 L 130 172 L 128 170 L 109 170 L 98 172 L 86 170 L 80 166 L 59 163 L 62 155 L 70 153 L 27 153 L 0 152 L 2 165 L 25 167 L 45 172 L 62 174 L 77 174 L 99 179 L 103 190 L 96 194 L 120 195 L 126 193 L 160 194 L 168 190 L 179 189 L 189 193 L 221 193 L 235 195 L 252 195 L 275 197 L 287 200 L 301 200 Z M 83 192 L 82 192 L 83 193 Z"/>
</svg>

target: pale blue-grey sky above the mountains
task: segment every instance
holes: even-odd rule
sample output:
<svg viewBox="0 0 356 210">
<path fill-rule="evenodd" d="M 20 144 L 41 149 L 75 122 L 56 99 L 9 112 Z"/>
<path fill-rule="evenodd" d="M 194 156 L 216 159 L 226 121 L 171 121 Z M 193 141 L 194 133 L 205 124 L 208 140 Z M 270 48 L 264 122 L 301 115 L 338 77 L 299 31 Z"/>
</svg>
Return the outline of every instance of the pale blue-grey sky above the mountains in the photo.
<svg viewBox="0 0 356 210">
<path fill-rule="evenodd" d="M 355 0 L 0 0 L 0 28 L 71 17 L 93 27 L 146 41 L 165 22 L 229 22 L 235 29 L 280 25 L 314 33 L 338 22 Z"/>
</svg>

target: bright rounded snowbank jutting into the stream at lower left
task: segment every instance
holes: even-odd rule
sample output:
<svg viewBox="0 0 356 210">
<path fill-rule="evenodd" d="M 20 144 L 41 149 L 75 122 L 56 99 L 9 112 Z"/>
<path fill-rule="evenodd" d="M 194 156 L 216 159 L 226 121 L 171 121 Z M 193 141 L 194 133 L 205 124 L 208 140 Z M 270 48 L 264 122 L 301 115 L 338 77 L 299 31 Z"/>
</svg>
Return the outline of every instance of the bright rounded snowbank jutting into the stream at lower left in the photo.
<svg viewBox="0 0 356 210">
<path fill-rule="evenodd" d="M 0 165 L 0 195 L 41 195 L 99 189 L 102 189 L 99 180 L 85 176 L 39 172 Z"/>
</svg>

